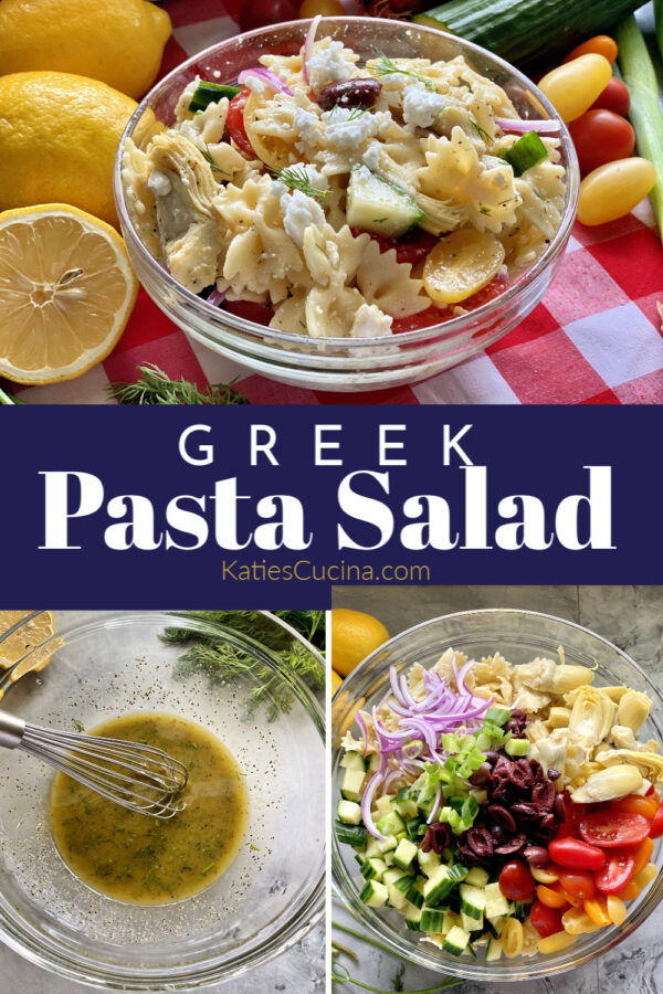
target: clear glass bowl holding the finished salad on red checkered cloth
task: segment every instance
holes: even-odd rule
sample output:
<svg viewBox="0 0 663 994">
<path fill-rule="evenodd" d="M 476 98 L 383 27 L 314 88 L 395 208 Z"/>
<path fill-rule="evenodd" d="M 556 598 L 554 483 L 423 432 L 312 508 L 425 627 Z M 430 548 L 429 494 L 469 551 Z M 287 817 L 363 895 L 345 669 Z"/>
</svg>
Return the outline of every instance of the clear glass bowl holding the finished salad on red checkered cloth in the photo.
<svg viewBox="0 0 663 994">
<path fill-rule="evenodd" d="M 122 181 L 122 155 L 127 138 L 144 146 L 155 123 L 170 125 L 183 87 L 196 77 L 234 83 L 261 54 L 299 51 L 309 21 L 292 21 L 228 39 L 200 52 L 166 76 L 143 101 L 119 144 L 114 189 L 117 212 L 131 264 L 147 293 L 193 338 L 254 372 L 315 390 L 358 392 L 414 383 L 456 366 L 514 328 L 539 303 L 559 265 L 578 200 L 579 171 L 569 133 L 546 97 L 518 70 L 478 45 L 451 34 L 402 21 L 376 18 L 325 18 L 318 38 L 332 35 L 354 49 L 360 61 L 376 51 L 396 57 L 467 62 L 509 94 L 523 118 L 559 121 L 561 157 L 567 170 L 566 204 L 559 231 L 539 256 L 497 299 L 472 314 L 418 331 L 381 338 L 317 338 L 278 331 L 220 310 L 185 289 L 148 252 L 137 235 L 133 205 Z"/>
</svg>

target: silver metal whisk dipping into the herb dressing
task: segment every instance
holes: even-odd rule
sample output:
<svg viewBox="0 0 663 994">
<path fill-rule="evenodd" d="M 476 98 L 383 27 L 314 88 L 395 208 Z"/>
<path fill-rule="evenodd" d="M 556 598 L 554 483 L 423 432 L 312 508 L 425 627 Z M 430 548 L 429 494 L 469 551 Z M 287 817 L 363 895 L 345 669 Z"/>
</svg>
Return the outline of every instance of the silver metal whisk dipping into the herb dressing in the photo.
<svg viewBox="0 0 663 994">
<path fill-rule="evenodd" d="M 171 818 L 183 804 L 187 768 L 161 749 L 29 725 L 0 711 L 0 745 L 22 749 L 97 794 L 155 818 Z"/>
</svg>

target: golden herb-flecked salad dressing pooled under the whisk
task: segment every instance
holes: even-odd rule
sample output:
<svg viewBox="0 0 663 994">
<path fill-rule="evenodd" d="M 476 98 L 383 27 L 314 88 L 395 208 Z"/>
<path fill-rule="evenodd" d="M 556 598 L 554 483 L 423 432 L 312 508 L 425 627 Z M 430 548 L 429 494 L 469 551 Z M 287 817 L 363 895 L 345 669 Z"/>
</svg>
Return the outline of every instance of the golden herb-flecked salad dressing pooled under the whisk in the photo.
<svg viewBox="0 0 663 994">
<path fill-rule="evenodd" d="M 91 734 L 162 749 L 187 766 L 189 781 L 179 795 L 183 811 L 162 821 L 57 773 L 51 826 L 70 869 L 106 897 L 136 905 L 179 901 L 209 887 L 235 858 L 246 828 L 246 787 L 228 749 L 201 726 L 161 713 L 124 715 Z"/>
</svg>

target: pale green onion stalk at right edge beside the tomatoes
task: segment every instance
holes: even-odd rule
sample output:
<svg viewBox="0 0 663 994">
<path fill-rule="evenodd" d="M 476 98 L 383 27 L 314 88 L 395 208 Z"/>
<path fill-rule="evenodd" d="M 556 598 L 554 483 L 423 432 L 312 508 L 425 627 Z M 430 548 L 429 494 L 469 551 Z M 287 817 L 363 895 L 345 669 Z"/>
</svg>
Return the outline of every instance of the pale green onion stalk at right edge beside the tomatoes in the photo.
<svg viewBox="0 0 663 994">
<path fill-rule="evenodd" d="M 663 0 L 654 0 L 654 9 L 659 45 L 663 45 Z M 656 169 L 657 179 L 650 195 L 663 239 L 663 115 L 656 72 L 633 15 L 619 24 L 614 39 L 619 46 L 621 75 L 631 93 L 629 117 L 635 129 L 638 150 Z"/>
</svg>

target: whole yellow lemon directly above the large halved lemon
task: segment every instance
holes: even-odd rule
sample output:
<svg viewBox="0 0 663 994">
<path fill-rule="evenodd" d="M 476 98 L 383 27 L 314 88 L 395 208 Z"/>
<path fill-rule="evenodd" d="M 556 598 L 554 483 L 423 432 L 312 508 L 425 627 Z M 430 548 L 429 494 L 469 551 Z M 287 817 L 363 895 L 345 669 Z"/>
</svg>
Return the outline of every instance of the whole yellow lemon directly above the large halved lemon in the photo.
<svg viewBox="0 0 663 994">
<path fill-rule="evenodd" d="M 0 210 L 70 203 L 117 225 L 113 160 L 135 109 L 84 76 L 0 76 Z"/>
</svg>

